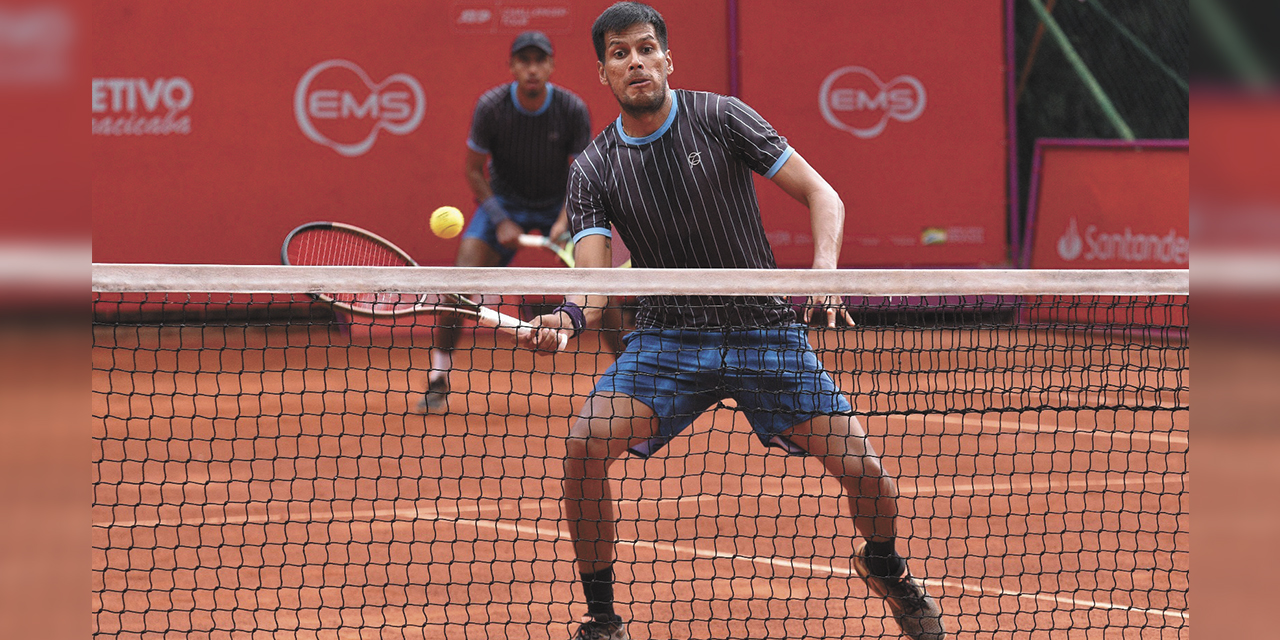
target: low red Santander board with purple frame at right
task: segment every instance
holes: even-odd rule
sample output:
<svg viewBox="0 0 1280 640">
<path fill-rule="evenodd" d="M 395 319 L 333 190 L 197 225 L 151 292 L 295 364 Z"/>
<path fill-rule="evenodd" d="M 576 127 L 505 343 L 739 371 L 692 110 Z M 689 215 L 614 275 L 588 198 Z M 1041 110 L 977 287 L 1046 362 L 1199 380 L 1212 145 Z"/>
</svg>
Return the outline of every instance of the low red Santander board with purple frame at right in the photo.
<svg viewBox="0 0 1280 640">
<path fill-rule="evenodd" d="M 1187 269 L 1185 141 L 1041 141 L 1028 216 L 1033 269 Z"/>
</svg>

